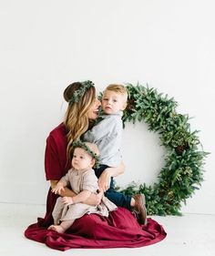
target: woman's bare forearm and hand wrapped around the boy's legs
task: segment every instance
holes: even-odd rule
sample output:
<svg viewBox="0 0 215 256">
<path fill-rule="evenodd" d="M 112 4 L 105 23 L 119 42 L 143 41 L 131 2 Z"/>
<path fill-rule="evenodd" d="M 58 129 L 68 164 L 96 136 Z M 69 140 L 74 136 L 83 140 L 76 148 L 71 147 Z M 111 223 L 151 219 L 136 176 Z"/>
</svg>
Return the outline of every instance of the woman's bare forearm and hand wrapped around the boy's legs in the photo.
<svg viewBox="0 0 215 256">
<path fill-rule="evenodd" d="M 106 191 L 109 189 L 109 183 L 111 177 L 117 177 L 125 171 L 125 165 L 123 162 L 118 167 L 109 167 L 105 169 L 98 179 L 98 187 Z"/>
</svg>

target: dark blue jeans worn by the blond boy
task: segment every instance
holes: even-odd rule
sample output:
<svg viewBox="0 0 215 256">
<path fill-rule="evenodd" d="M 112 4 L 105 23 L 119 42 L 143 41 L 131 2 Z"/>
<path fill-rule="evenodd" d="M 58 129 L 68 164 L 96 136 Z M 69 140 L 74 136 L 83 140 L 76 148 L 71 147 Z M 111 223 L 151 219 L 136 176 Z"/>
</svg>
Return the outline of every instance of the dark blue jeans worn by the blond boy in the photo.
<svg viewBox="0 0 215 256">
<path fill-rule="evenodd" d="M 99 168 L 94 169 L 97 175 L 97 178 L 99 178 L 102 172 L 107 168 L 108 168 L 107 165 L 100 165 Z M 105 196 L 107 197 L 108 200 L 111 200 L 117 206 L 125 207 L 128 210 L 131 210 L 131 206 L 130 206 L 131 196 L 124 195 L 114 189 L 113 177 L 111 177 L 109 189 L 107 189 L 107 191 L 105 192 Z"/>
</svg>

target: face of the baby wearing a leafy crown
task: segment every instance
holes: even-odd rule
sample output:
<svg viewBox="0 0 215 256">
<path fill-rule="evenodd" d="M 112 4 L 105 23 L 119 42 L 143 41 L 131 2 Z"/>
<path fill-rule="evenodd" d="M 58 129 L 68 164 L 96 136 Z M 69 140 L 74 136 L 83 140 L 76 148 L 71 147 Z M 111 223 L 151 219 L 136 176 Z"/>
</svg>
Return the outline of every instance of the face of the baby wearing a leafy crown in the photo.
<svg viewBox="0 0 215 256">
<path fill-rule="evenodd" d="M 94 159 L 86 152 L 85 149 L 75 148 L 72 158 L 72 166 L 75 169 L 81 170 L 92 168 L 94 163 Z"/>
</svg>

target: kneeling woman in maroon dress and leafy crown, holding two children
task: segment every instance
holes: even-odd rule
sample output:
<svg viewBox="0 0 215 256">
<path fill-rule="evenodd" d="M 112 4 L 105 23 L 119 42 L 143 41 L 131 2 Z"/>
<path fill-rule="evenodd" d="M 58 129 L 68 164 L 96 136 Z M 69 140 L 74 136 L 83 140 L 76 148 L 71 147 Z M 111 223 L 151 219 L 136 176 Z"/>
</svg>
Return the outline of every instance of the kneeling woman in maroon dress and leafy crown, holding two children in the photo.
<svg viewBox="0 0 215 256">
<path fill-rule="evenodd" d="M 55 188 L 57 181 L 70 169 L 72 143 L 87 131 L 91 120 L 97 118 L 100 106 L 96 89 L 90 81 L 69 85 L 64 97 L 68 102 L 64 123 L 53 129 L 46 140 L 46 179 L 50 180 L 51 185 L 46 200 L 46 216 L 26 229 L 26 238 L 46 243 L 61 251 L 70 248 L 140 247 L 163 240 L 166 233 L 159 223 L 148 219 L 148 225 L 139 225 L 132 213 L 121 207 L 110 212 L 108 217 L 84 215 L 74 222 L 67 233 L 47 230 L 53 224 L 52 211 L 59 196 L 52 193 L 51 189 Z M 110 177 L 118 176 L 123 171 L 123 164 L 118 168 L 106 169 L 99 178 L 99 187 L 107 190 Z M 60 196 L 74 195 L 69 188 L 60 193 Z M 91 195 L 85 203 L 97 205 L 99 198 L 100 196 Z"/>
</svg>

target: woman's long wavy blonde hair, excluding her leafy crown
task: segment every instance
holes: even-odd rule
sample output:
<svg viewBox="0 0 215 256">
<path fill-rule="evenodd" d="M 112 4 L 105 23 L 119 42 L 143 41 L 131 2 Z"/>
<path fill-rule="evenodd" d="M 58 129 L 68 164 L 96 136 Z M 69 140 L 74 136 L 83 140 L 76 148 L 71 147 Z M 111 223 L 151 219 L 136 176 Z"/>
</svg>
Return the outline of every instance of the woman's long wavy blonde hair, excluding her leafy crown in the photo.
<svg viewBox="0 0 215 256">
<path fill-rule="evenodd" d="M 67 102 L 71 99 L 74 92 L 82 86 L 76 82 L 69 85 L 64 91 L 64 98 Z M 96 88 L 87 88 L 83 97 L 78 102 L 68 104 L 64 124 L 67 129 L 67 160 L 71 160 L 73 151 L 72 143 L 87 131 L 89 126 L 88 110 L 92 107 L 96 98 Z"/>
</svg>

